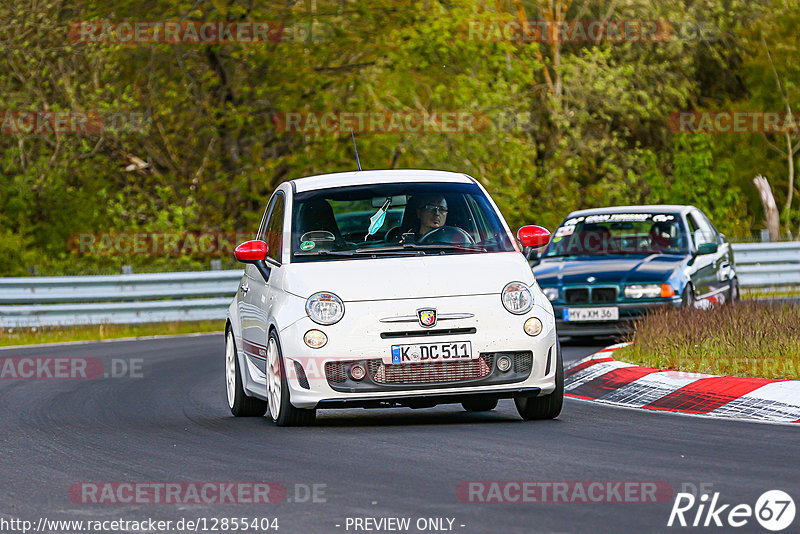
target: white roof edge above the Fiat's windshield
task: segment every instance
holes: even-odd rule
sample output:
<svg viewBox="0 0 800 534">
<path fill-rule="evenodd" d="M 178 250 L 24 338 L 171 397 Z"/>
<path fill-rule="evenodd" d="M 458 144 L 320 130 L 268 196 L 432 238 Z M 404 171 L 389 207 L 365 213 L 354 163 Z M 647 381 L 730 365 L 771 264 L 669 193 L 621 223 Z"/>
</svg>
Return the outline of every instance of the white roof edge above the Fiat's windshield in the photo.
<svg viewBox="0 0 800 534">
<path fill-rule="evenodd" d="M 348 185 L 388 184 L 394 182 L 449 182 L 469 184 L 473 183 L 473 180 L 462 173 L 427 171 L 421 169 L 340 172 L 291 180 L 291 183 L 298 193 Z"/>
</svg>

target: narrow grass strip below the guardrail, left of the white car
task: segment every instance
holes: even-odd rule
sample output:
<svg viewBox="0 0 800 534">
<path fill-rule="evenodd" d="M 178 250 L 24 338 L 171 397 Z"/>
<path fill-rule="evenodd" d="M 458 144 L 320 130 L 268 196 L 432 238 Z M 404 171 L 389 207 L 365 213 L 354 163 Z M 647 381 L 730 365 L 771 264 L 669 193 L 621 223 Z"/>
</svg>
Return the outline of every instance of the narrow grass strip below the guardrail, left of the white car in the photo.
<svg viewBox="0 0 800 534">
<path fill-rule="evenodd" d="M 126 337 L 167 336 L 219 332 L 225 321 L 189 321 L 146 324 L 103 324 L 69 327 L 0 328 L 0 347 L 63 343 L 68 341 L 101 341 Z"/>
</svg>

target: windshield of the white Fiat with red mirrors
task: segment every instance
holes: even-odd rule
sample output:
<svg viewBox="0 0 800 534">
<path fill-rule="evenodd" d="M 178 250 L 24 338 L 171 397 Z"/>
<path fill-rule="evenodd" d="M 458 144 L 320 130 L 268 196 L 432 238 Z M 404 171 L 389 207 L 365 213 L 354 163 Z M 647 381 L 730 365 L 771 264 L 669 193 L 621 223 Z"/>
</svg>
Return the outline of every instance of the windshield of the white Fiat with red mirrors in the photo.
<svg viewBox="0 0 800 534">
<path fill-rule="evenodd" d="M 514 250 L 475 184 L 388 183 L 294 196 L 292 261 Z"/>
</svg>

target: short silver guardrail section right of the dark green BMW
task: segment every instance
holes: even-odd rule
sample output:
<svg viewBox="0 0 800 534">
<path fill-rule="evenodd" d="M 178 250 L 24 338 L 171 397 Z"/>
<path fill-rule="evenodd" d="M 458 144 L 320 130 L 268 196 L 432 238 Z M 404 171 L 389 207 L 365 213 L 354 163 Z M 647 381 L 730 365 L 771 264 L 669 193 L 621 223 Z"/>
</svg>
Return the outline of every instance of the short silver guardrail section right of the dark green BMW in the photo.
<svg viewBox="0 0 800 534">
<path fill-rule="evenodd" d="M 731 246 L 741 287 L 800 285 L 800 241 Z"/>
</svg>

